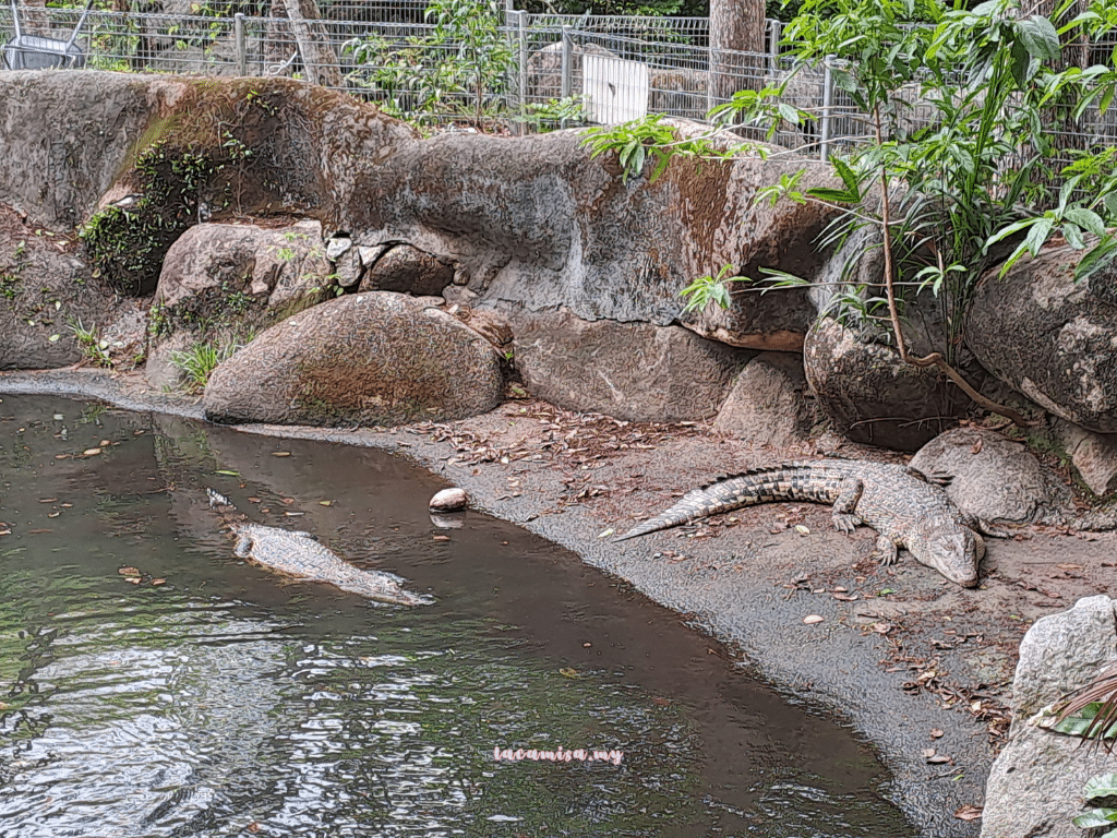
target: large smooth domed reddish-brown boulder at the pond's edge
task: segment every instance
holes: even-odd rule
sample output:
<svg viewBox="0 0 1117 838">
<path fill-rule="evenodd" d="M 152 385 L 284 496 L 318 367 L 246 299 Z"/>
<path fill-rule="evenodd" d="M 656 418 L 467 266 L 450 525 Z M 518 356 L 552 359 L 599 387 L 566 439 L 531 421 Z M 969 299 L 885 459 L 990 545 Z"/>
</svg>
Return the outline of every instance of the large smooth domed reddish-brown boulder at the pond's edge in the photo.
<svg viewBox="0 0 1117 838">
<path fill-rule="evenodd" d="M 500 359 L 454 316 L 374 292 L 323 303 L 218 366 L 202 404 L 219 422 L 390 426 L 491 410 Z"/>
</svg>

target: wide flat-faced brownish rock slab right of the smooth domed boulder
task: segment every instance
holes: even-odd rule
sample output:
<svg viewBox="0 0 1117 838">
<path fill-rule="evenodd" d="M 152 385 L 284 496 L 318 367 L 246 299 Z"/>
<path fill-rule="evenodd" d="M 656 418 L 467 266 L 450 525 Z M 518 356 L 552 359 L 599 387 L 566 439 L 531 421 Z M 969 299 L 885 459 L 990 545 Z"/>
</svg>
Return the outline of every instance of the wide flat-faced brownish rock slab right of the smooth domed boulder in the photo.
<svg viewBox="0 0 1117 838">
<path fill-rule="evenodd" d="M 634 421 L 714 416 L 752 353 L 678 326 L 589 322 L 570 312 L 509 315 L 527 390 L 570 410 Z"/>
</svg>

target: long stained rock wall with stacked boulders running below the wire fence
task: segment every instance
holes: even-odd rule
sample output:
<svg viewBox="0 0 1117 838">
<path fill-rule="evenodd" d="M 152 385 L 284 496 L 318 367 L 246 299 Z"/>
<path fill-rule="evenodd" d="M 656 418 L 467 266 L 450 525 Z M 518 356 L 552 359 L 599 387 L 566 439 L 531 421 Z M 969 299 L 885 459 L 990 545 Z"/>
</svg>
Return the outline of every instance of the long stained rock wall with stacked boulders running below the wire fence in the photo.
<svg viewBox="0 0 1117 838">
<path fill-rule="evenodd" d="M 679 136 L 706 131 L 672 126 Z M 159 383 L 173 383 L 170 352 L 237 331 L 223 313 L 221 328 L 208 314 L 199 321 L 202 296 L 223 289 L 249 298 L 239 325 L 255 332 L 338 295 L 403 292 L 438 294 L 497 332 L 510 327 L 515 340 L 500 343 L 505 369 L 510 358 L 531 392 L 572 409 L 674 420 L 720 411 L 723 431 L 774 439 L 743 423 L 761 421 L 753 403 L 780 401 L 770 392 L 775 382 L 795 406 L 801 438 L 812 420 L 795 375 L 762 365 L 738 377 L 757 351 L 805 351 L 813 404 L 858 441 L 914 450 L 968 409 L 954 384 L 900 362 L 881 335 L 819 320 L 846 287 L 847 254 L 817 245 L 832 208 L 755 201 L 803 166 L 786 154 L 737 147 L 732 160 L 676 159 L 659 175 L 649 164 L 627 177 L 615 155 L 594 158 L 580 131 L 421 140 L 374 106 L 289 79 L 93 72 L 0 74 L 0 128 L 9 151 L 0 203 L 10 215 L 65 234 L 74 275 L 98 294 L 162 301 L 156 317 L 195 316 L 154 323 L 144 349 Z M 808 166 L 799 188 L 819 185 L 833 185 L 825 168 Z M 245 221 L 259 230 L 248 236 Z M 324 258 L 286 270 L 277 241 L 267 242 L 283 234 L 267 229 L 300 221 L 321 228 L 314 248 Z M 866 236 L 848 247 L 867 254 L 853 274 L 872 287 L 881 268 Z M 17 263 L 18 242 L 0 237 L 0 269 Z M 166 259 L 169 251 L 178 255 Z M 1094 435 L 1061 437 L 1089 485 L 1105 491 L 1117 474 L 1109 439 L 1117 432 L 1117 294 L 1111 273 L 1075 286 L 1075 258 L 1051 250 L 1022 260 L 1003 284 L 983 282 L 968 332 L 992 373 Z M 782 270 L 814 287 L 758 294 L 735 285 L 727 308 L 685 311 L 680 289 L 725 265 L 745 276 Z M 277 295 L 302 302 L 284 308 Z M 1034 311 L 1012 307 L 1040 297 Z M 115 322 L 95 310 L 99 326 Z M 934 301 L 906 315 L 914 351 L 942 343 Z M 1053 343 L 1041 340 L 1052 333 Z M 0 352 L 0 365 L 71 360 L 73 342 L 51 349 L 52 336 L 20 336 Z M 966 347 L 956 351 L 964 358 Z"/>
</svg>

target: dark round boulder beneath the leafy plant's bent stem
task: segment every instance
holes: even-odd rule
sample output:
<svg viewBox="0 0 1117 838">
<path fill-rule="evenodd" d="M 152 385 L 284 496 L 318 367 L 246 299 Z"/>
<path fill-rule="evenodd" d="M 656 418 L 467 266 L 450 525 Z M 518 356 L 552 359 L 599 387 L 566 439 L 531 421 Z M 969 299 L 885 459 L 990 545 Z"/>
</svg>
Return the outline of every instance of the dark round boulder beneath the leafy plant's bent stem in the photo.
<svg viewBox="0 0 1117 838">
<path fill-rule="evenodd" d="M 968 403 L 935 368 L 906 364 L 831 317 L 808 334 L 803 368 L 823 413 L 855 442 L 914 451 Z"/>
</svg>

